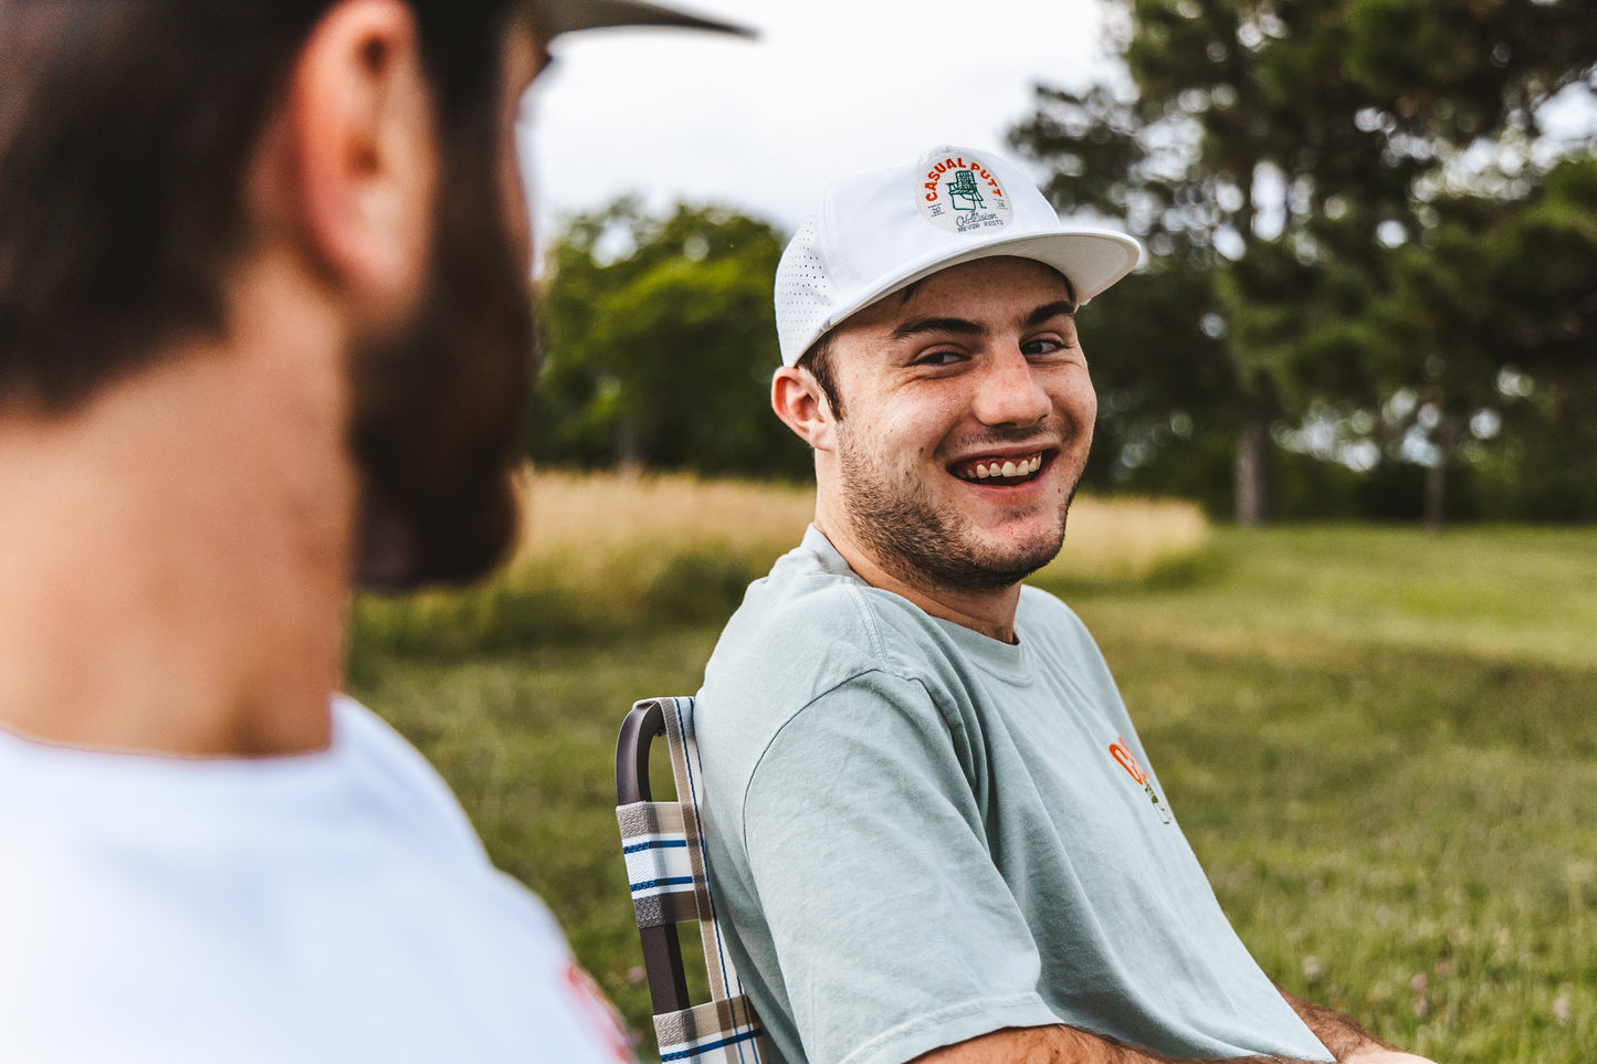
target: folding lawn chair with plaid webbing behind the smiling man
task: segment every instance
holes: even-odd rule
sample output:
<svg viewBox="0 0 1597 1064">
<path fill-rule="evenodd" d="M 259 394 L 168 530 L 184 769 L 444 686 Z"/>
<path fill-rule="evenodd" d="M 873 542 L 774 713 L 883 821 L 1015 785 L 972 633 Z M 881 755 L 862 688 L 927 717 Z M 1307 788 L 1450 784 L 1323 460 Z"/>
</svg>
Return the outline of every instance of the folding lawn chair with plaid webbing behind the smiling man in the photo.
<svg viewBox="0 0 1597 1064">
<path fill-rule="evenodd" d="M 648 748 L 664 735 L 677 800 L 653 802 Z M 765 1032 L 727 955 L 704 872 L 699 807 L 704 802 L 692 698 L 647 698 L 632 706 L 615 746 L 616 821 L 644 944 L 648 997 L 661 1064 L 760 1064 Z M 711 1000 L 688 1002 L 677 923 L 698 920 Z"/>
</svg>

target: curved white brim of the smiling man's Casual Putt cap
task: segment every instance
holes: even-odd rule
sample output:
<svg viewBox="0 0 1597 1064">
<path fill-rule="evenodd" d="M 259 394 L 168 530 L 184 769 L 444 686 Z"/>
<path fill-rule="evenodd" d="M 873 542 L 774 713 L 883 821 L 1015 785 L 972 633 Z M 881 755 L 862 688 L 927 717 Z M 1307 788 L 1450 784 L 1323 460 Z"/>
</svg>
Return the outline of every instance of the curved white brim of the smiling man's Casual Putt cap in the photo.
<svg viewBox="0 0 1597 1064">
<path fill-rule="evenodd" d="M 1073 228 L 1059 233 L 1027 233 L 1024 236 L 990 240 L 955 256 L 939 252 L 920 262 L 907 264 L 891 278 L 850 299 L 827 316 L 816 337 L 835 329 L 878 299 L 909 288 L 933 273 L 942 273 L 949 267 L 965 262 L 1001 256 L 1033 259 L 1054 267 L 1070 281 L 1076 304 L 1084 304 L 1137 268 L 1137 264 L 1142 260 L 1142 244 L 1135 238 L 1113 230 Z M 810 342 L 813 343 L 814 339 Z"/>
</svg>

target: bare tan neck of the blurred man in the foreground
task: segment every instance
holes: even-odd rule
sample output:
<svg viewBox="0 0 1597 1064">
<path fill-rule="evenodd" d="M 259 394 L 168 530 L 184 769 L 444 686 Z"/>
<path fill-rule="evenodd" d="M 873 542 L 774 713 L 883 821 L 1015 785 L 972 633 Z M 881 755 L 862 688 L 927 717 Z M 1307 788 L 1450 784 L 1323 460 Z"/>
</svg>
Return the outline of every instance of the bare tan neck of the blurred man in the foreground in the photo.
<svg viewBox="0 0 1597 1064">
<path fill-rule="evenodd" d="M 327 746 L 356 486 L 343 380 L 316 364 L 332 337 L 308 324 L 244 321 L 64 417 L 0 414 L 0 727 L 174 756 Z"/>
</svg>

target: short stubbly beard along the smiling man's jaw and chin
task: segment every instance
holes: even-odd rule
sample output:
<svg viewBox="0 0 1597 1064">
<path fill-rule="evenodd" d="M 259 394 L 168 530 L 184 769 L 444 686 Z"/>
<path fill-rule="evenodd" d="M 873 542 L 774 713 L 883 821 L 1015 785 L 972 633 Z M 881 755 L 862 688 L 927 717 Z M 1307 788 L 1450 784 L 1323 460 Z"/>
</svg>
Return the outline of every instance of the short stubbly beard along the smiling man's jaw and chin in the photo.
<svg viewBox="0 0 1597 1064">
<path fill-rule="evenodd" d="M 921 591 L 998 591 L 1054 561 L 1064 546 L 1075 484 L 1059 508 L 1054 534 L 1014 551 L 995 551 L 981 543 L 963 514 L 939 506 L 921 481 L 891 479 L 842 422 L 838 428 L 838 463 L 853 534 L 870 548 L 877 564 L 904 583 Z M 1005 441 L 995 435 L 990 443 Z"/>
</svg>

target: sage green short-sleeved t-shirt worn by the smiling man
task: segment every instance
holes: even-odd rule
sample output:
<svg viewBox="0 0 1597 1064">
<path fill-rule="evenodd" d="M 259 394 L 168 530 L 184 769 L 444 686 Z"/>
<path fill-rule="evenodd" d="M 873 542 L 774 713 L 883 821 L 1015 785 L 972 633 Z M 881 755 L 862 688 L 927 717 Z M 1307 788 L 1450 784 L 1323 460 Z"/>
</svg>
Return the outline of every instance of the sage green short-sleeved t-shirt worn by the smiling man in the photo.
<svg viewBox="0 0 1597 1064">
<path fill-rule="evenodd" d="M 816 529 L 755 582 L 695 713 L 727 947 L 791 1064 L 1067 1022 L 1174 1058 L 1329 1061 L 1215 903 L 1097 645 L 1019 645 L 866 585 Z"/>
</svg>

